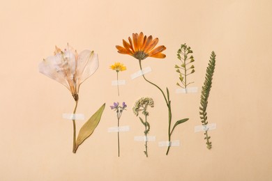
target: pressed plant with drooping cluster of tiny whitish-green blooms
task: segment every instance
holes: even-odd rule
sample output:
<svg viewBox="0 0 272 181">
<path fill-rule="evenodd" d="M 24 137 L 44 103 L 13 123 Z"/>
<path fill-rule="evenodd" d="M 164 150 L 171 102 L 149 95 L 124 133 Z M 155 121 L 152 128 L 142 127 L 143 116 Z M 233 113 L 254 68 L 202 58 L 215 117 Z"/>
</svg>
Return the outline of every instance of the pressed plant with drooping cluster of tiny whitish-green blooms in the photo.
<svg viewBox="0 0 272 181">
<path fill-rule="evenodd" d="M 133 107 L 133 113 L 135 113 L 136 116 L 139 116 L 139 111 L 142 111 L 142 114 L 144 115 L 144 120 L 139 116 L 139 120 L 141 121 L 141 123 L 144 125 L 145 129 L 144 129 L 144 136 L 145 136 L 145 150 L 144 150 L 144 155 L 146 155 L 146 157 L 149 157 L 148 153 L 147 153 L 147 134 L 149 134 L 149 130 L 150 130 L 150 124 L 149 122 L 147 122 L 147 116 L 149 116 L 149 112 L 147 111 L 147 107 L 154 107 L 154 101 L 151 97 L 142 97 L 141 99 L 137 100 L 137 102 L 135 102 L 135 105 Z"/>
</svg>

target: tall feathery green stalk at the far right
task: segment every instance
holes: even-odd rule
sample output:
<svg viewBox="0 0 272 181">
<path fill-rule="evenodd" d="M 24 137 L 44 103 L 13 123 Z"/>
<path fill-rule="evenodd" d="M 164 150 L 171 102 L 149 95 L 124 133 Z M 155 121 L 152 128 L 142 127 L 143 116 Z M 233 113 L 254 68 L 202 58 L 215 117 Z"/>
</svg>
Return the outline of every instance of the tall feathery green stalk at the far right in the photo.
<svg viewBox="0 0 272 181">
<path fill-rule="evenodd" d="M 200 97 L 200 104 L 201 106 L 199 107 L 200 111 L 200 119 L 202 125 L 208 125 L 207 121 L 207 113 L 206 113 L 206 108 L 208 106 L 208 98 L 209 94 L 211 91 L 211 84 L 213 80 L 213 72 L 216 67 L 216 54 L 214 52 L 211 52 L 210 60 L 209 60 L 209 65 L 206 69 L 206 77 L 204 81 L 204 85 L 202 86 L 202 92 L 201 92 L 201 97 Z M 205 138 L 206 139 L 206 147 L 210 150 L 211 149 L 211 136 L 208 136 L 208 130 L 205 130 Z"/>
</svg>

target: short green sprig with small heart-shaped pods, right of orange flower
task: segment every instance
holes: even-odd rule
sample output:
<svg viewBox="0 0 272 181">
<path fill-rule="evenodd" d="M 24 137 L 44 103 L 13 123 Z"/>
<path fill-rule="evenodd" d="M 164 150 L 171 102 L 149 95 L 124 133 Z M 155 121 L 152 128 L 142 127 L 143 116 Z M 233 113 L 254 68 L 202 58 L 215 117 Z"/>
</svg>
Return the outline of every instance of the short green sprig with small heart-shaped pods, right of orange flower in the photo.
<svg viewBox="0 0 272 181">
<path fill-rule="evenodd" d="M 189 84 L 194 83 L 187 81 L 187 77 L 189 74 L 192 74 L 195 72 L 195 66 L 190 65 L 192 62 L 195 61 L 194 57 L 192 56 L 192 50 L 190 47 L 186 45 L 181 45 L 181 48 L 178 50 L 176 56 L 178 56 L 178 59 L 181 61 L 181 65 L 175 65 L 176 72 L 179 73 L 179 80 L 181 81 L 181 84 L 176 83 L 177 86 L 180 86 L 181 88 L 187 88 Z"/>
</svg>

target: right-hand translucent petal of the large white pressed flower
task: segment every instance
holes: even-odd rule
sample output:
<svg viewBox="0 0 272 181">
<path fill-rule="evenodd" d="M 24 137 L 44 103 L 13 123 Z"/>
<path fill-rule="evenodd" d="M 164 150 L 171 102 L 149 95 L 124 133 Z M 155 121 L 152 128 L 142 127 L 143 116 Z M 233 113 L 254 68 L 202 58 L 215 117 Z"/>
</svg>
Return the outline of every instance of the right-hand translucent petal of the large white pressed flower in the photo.
<svg viewBox="0 0 272 181">
<path fill-rule="evenodd" d="M 89 50 L 81 52 L 77 58 L 77 83 L 82 84 L 83 81 L 91 77 L 98 69 L 98 54 L 94 54 Z"/>
</svg>

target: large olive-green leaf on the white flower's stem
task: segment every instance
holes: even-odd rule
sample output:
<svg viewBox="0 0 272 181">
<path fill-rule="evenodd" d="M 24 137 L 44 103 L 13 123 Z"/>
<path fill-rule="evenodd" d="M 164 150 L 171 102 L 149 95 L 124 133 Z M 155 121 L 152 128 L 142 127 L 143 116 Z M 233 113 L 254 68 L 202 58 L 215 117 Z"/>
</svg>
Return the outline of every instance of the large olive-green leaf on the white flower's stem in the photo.
<svg viewBox="0 0 272 181">
<path fill-rule="evenodd" d="M 83 143 L 83 141 L 85 139 L 87 139 L 89 136 L 91 136 L 94 129 L 96 129 L 96 127 L 100 121 L 100 118 L 102 116 L 102 113 L 105 109 L 105 104 L 106 103 L 104 103 L 98 109 L 98 111 L 96 111 L 96 113 L 94 113 L 93 116 L 91 116 L 91 118 L 89 118 L 89 120 L 87 120 L 86 123 L 81 127 L 80 132 L 77 136 L 75 150 L 77 150 L 77 148 Z"/>
</svg>

